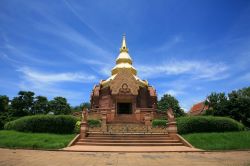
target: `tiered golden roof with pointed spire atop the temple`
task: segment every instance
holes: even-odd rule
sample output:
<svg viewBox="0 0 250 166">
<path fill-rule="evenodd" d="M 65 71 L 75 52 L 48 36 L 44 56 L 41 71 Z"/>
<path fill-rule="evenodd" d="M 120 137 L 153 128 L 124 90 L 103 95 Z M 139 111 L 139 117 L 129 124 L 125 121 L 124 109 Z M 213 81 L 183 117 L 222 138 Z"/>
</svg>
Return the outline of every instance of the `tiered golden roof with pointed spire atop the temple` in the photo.
<svg viewBox="0 0 250 166">
<path fill-rule="evenodd" d="M 111 72 L 112 76 L 109 77 L 107 80 L 102 81 L 101 84 L 103 86 L 108 86 L 110 81 L 115 78 L 115 76 L 117 75 L 117 73 L 119 71 L 121 71 L 121 70 L 129 70 L 133 74 L 135 79 L 137 81 L 139 81 L 139 85 L 148 86 L 148 82 L 146 80 L 141 80 L 139 77 L 136 76 L 137 71 L 132 66 L 132 63 L 133 63 L 132 58 L 128 54 L 128 48 L 127 48 L 127 45 L 126 45 L 126 37 L 125 37 L 125 35 L 123 35 L 122 46 L 120 48 L 120 54 L 116 58 L 115 67 L 113 67 L 113 69 L 112 69 L 112 72 Z"/>
</svg>

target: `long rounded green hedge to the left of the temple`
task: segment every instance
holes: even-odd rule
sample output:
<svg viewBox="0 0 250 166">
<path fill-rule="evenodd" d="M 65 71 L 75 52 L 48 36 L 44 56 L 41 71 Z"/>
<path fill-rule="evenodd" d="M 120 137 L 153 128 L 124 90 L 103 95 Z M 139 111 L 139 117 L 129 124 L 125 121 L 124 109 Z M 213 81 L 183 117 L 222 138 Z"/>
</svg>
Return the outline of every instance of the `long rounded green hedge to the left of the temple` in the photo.
<svg viewBox="0 0 250 166">
<path fill-rule="evenodd" d="M 73 133 L 77 119 L 70 115 L 25 116 L 4 125 L 5 130 L 34 133 Z"/>
</svg>

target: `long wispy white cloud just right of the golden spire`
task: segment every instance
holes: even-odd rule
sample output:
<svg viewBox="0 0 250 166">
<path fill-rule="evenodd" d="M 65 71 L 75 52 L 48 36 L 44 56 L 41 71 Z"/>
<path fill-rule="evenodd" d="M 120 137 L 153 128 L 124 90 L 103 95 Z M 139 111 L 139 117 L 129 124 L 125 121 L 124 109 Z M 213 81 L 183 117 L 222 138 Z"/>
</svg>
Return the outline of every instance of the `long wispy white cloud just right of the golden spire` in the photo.
<svg viewBox="0 0 250 166">
<path fill-rule="evenodd" d="M 166 75 L 190 75 L 193 79 L 219 80 L 228 75 L 228 67 L 223 63 L 208 61 L 169 61 L 158 65 L 137 65 L 139 74 L 146 78 L 157 78 Z"/>
</svg>

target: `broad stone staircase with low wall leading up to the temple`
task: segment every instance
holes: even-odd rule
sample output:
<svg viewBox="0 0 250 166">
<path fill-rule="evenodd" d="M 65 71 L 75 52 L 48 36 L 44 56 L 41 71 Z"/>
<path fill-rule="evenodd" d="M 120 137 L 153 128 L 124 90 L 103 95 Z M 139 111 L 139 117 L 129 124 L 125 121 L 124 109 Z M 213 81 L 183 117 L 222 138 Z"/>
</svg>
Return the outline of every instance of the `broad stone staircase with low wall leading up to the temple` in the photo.
<svg viewBox="0 0 250 166">
<path fill-rule="evenodd" d="M 81 133 L 71 141 L 68 150 L 131 152 L 195 150 L 177 134 L 174 125 L 169 123 L 168 128 L 147 126 L 136 122 L 133 115 L 119 115 L 113 123 L 101 127 L 87 128 L 86 122 L 82 122 Z"/>
</svg>

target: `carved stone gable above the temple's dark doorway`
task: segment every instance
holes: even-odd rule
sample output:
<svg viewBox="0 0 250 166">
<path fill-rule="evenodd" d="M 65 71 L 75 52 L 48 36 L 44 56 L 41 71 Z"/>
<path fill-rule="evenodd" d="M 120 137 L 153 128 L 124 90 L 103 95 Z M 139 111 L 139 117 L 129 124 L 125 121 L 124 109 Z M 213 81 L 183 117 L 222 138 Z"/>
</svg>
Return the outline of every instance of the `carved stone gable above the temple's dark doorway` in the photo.
<svg viewBox="0 0 250 166">
<path fill-rule="evenodd" d="M 110 84 L 112 95 L 132 94 L 138 95 L 139 85 L 133 74 L 128 70 L 121 70 Z"/>
</svg>

